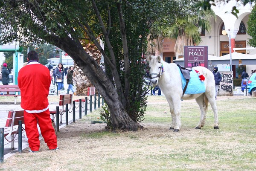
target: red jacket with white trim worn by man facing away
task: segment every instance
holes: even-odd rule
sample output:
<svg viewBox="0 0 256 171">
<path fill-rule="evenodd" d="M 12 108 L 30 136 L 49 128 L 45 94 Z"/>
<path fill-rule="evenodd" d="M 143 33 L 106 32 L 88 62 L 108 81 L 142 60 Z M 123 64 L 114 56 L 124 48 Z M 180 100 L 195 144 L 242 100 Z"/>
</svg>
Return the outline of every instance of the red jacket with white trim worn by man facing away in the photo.
<svg viewBox="0 0 256 171">
<path fill-rule="evenodd" d="M 50 84 L 50 72 L 44 65 L 31 61 L 22 67 L 18 74 L 20 106 L 28 113 L 41 113 L 47 110 Z"/>
</svg>

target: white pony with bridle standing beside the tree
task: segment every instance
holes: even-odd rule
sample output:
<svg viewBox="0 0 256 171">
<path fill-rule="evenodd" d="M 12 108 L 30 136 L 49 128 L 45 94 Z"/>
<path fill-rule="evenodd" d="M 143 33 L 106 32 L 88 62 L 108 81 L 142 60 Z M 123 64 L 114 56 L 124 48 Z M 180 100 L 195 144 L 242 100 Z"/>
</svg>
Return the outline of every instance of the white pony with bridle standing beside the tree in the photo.
<svg viewBox="0 0 256 171">
<path fill-rule="evenodd" d="M 164 93 L 166 100 L 169 103 L 170 111 L 172 114 L 172 125 L 170 129 L 174 129 L 174 132 L 180 130 L 180 101 L 181 99 L 195 99 L 201 110 L 201 117 L 196 129 L 201 129 L 204 126 L 205 115 L 208 108 L 208 102 L 211 104 L 214 113 L 214 129 L 218 129 L 218 111 L 215 101 L 215 80 L 214 75 L 210 70 L 205 67 L 193 67 L 198 70 L 205 77 L 204 93 L 199 94 L 184 94 L 182 89 L 182 81 L 179 72 L 179 68 L 175 63 L 168 64 L 163 61 L 160 56 L 149 55 L 147 57 L 150 68 L 151 83 L 156 86 L 160 86 L 160 89 Z"/>
</svg>

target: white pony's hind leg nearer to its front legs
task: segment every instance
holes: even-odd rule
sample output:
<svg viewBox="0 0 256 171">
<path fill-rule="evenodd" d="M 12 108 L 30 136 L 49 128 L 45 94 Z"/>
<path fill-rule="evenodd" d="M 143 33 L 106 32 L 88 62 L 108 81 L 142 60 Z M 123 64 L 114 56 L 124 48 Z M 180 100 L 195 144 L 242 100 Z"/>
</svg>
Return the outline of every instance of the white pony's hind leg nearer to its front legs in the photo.
<svg viewBox="0 0 256 171">
<path fill-rule="evenodd" d="M 205 115 L 206 115 L 207 108 L 208 108 L 208 100 L 204 99 L 204 94 L 202 94 L 201 96 L 196 98 L 195 101 L 199 105 L 199 108 L 201 111 L 200 121 L 199 121 L 198 125 L 195 127 L 195 129 L 201 129 L 205 123 Z"/>
</svg>

